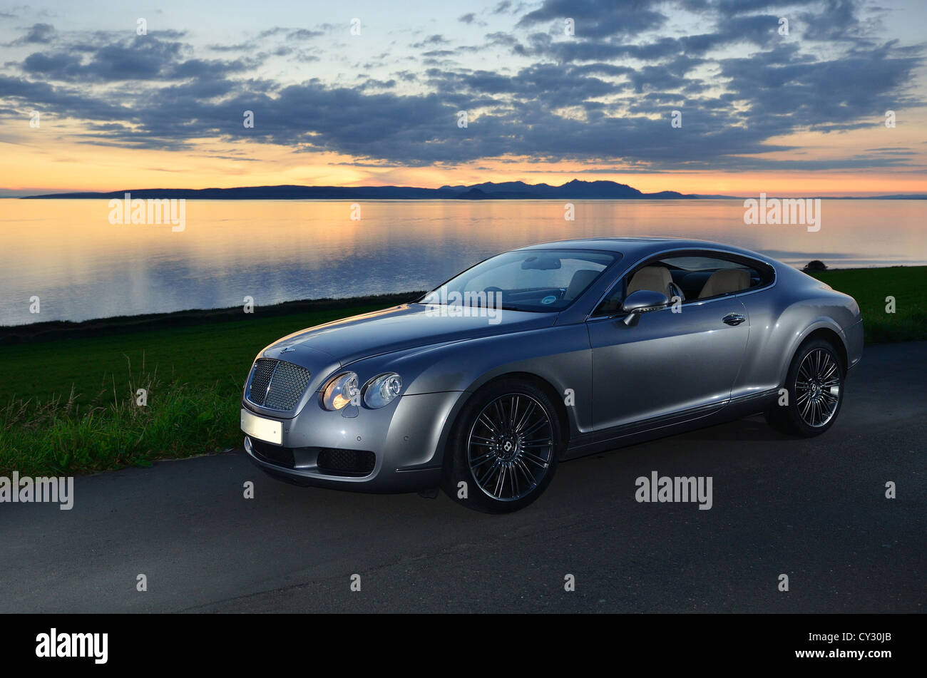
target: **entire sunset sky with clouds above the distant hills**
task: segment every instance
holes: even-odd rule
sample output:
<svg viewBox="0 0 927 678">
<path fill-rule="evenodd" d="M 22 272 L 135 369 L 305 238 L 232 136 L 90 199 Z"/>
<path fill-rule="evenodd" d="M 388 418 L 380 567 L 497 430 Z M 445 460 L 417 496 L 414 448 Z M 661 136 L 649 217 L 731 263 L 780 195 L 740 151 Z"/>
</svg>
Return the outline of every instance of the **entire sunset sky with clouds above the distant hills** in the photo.
<svg viewBox="0 0 927 678">
<path fill-rule="evenodd" d="M 0 2 L 0 196 L 927 193 L 925 25 L 922 0 Z"/>
</svg>

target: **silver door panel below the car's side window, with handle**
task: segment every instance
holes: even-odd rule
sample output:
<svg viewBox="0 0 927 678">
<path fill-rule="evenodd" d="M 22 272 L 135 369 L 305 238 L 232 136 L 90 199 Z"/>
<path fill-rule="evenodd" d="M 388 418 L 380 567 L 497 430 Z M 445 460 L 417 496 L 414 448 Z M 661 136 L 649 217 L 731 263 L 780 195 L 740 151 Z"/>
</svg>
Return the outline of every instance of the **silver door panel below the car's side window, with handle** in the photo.
<svg viewBox="0 0 927 678">
<path fill-rule="evenodd" d="M 740 299 L 723 295 L 587 320 L 594 430 L 721 405 L 730 399 L 749 334 Z"/>
</svg>

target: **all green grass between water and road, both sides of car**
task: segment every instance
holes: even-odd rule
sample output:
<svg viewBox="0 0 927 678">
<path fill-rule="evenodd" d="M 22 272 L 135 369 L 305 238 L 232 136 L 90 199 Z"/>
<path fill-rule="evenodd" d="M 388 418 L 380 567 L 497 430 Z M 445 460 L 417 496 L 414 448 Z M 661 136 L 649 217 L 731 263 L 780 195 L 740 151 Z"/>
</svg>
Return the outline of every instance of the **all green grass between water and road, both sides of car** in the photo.
<svg viewBox="0 0 927 678">
<path fill-rule="evenodd" d="M 927 267 L 814 275 L 857 299 L 867 344 L 927 339 Z M 0 475 L 105 471 L 239 446 L 238 399 L 260 348 L 413 297 L 297 302 L 245 319 L 224 309 L 0 328 Z M 148 392 L 144 408 L 137 388 Z"/>
</svg>

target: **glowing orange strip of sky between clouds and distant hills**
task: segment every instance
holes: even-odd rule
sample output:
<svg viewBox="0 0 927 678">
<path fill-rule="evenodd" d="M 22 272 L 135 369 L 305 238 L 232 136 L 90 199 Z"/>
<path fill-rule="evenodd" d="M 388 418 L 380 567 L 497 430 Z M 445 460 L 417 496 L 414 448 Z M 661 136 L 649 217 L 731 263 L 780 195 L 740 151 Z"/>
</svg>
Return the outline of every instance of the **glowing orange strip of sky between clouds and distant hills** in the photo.
<svg viewBox="0 0 927 678">
<path fill-rule="evenodd" d="M 73 141 L 69 125 L 43 122 L 0 143 L 0 188 L 29 193 L 121 191 L 143 188 L 234 188 L 279 184 L 400 185 L 438 188 L 451 184 L 523 181 L 560 185 L 574 179 L 627 183 L 643 193 L 678 191 L 701 195 L 878 195 L 927 193 L 927 179 L 910 168 L 871 170 L 679 170 L 641 172 L 614 165 L 532 158 L 484 158 L 453 167 L 390 167 L 336 153 L 297 153 L 257 143 L 199 140 L 183 151 L 126 148 Z M 866 149 L 894 147 L 906 138 L 877 128 L 844 134 L 801 133 L 770 140 L 794 150 L 764 154 L 774 161 L 826 161 Z M 911 140 L 908 135 L 908 144 Z M 921 144 L 922 145 L 922 144 Z M 927 153 L 924 153 L 927 156 Z M 234 159 L 240 158 L 240 159 Z M 927 157 L 912 157 L 927 164 Z"/>
</svg>

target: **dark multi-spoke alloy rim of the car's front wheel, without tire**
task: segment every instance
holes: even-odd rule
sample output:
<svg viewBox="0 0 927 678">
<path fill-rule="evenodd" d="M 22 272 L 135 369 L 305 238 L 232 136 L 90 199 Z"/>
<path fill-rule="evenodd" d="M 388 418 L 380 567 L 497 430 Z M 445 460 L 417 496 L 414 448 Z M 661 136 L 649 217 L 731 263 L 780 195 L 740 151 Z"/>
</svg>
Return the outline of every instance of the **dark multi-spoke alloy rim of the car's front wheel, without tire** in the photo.
<svg viewBox="0 0 927 678">
<path fill-rule="evenodd" d="M 467 463 L 483 492 L 500 501 L 527 496 L 551 465 L 551 419 L 529 395 L 500 395 L 476 417 Z"/>
</svg>

